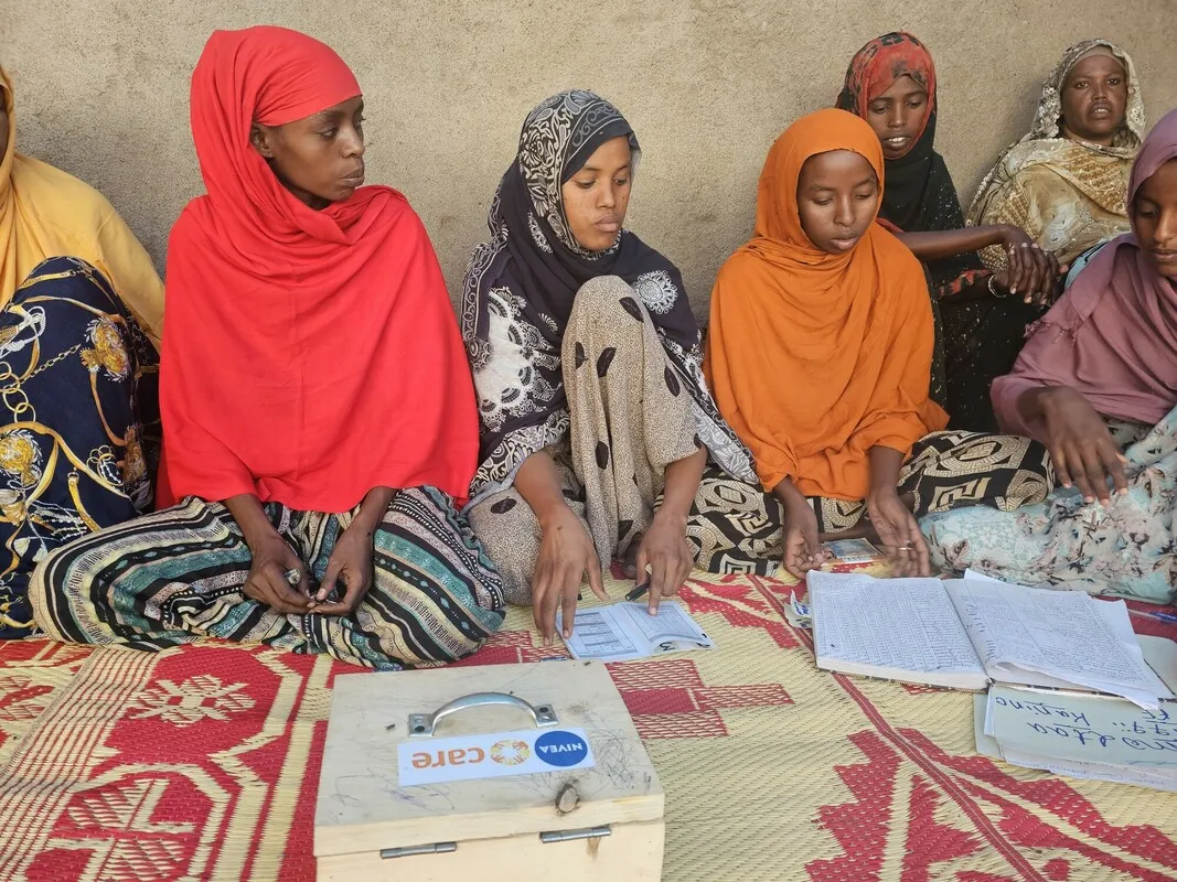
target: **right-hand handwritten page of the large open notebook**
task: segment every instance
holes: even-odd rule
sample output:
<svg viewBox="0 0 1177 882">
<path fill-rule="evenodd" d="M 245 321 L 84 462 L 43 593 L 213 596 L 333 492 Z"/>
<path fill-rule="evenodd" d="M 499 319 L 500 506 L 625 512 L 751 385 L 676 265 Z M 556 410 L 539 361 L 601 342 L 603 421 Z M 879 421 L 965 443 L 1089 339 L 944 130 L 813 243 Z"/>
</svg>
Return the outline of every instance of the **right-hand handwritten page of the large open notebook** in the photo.
<svg viewBox="0 0 1177 882">
<path fill-rule="evenodd" d="M 991 580 L 953 580 L 944 587 L 995 680 L 1071 683 L 1142 707 L 1172 697 L 1145 664 L 1123 601 Z"/>
</svg>

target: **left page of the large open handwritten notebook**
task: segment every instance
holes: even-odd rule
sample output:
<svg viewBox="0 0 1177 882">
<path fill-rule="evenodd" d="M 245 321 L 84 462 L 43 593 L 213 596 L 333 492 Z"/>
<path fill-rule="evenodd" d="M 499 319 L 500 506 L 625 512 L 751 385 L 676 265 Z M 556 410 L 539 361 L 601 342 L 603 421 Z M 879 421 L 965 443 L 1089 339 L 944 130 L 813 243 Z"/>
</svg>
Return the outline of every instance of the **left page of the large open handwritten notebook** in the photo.
<svg viewBox="0 0 1177 882">
<path fill-rule="evenodd" d="M 818 657 L 872 668 L 984 674 L 938 579 L 807 575 Z"/>
</svg>

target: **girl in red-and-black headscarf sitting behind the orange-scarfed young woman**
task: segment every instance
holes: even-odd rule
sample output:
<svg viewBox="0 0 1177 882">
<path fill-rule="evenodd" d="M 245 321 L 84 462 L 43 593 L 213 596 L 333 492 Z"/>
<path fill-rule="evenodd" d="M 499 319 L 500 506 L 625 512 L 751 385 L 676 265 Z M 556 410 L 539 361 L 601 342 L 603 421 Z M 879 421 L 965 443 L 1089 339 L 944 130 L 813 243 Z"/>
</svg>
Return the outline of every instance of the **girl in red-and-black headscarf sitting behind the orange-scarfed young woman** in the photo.
<svg viewBox="0 0 1177 882">
<path fill-rule="evenodd" d="M 886 169 L 879 218 L 930 275 L 943 350 L 932 396 L 952 428 L 996 430 L 989 386 L 1013 365 L 1026 325 L 1055 289 L 1058 265 L 1018 227 L 965 227 L 952 176 L 935 149 L 936 66 L 915 36 L 884 34 L 859 49 L 838 107 L 862 116 L 878 136 Z M 977 254 L 989 246 L 1009 256 L 996 275 Z"/>
</svg>

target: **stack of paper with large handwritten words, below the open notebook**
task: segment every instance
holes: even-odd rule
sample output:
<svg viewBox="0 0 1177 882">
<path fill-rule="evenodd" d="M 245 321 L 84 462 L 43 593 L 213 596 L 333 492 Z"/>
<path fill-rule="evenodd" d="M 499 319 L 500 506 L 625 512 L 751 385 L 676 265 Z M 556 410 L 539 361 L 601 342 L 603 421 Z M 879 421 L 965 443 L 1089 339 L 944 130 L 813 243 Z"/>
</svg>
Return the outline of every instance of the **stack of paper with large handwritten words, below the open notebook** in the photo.
<svg viewBox="0 0 1177 882">
<path fill-rule="evenodd" d="M 977 751 L 1013 766 L 1177 793 L 1177 702 L 993 686 L 975 706 Z"/>
</svg>

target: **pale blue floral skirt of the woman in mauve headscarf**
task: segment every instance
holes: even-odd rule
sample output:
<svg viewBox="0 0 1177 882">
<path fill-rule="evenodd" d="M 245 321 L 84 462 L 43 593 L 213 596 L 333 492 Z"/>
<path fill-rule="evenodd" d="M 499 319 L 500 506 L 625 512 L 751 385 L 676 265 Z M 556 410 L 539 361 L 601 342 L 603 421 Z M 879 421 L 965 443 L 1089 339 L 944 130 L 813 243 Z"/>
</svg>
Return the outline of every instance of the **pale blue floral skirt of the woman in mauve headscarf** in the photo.
<svg viewBox="0 0 1177 882">
<path fill-rule="evenodd" d="M 1177 409 L 1152 428 L 1109 423 L 1125 452 L 1129 492 L 1109 508 L 1056 490 L 1017 512 L 965 508 L 924 517 L 932 561 L 1011 582 L 1119 594 L 1159 603 L 1177 596 Z"/>
</svg>

